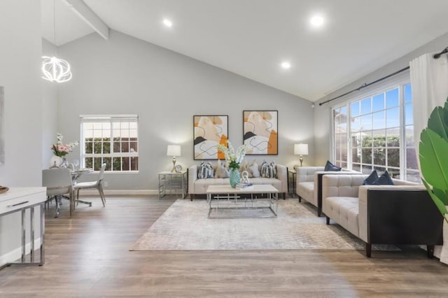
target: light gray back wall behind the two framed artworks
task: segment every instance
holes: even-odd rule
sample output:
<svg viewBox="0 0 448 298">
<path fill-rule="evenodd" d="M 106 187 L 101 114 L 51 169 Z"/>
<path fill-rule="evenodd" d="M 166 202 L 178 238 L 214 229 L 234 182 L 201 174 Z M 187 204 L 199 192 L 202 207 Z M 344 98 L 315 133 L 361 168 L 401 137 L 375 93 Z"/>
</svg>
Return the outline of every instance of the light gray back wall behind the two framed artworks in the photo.
<svg viewBox="0 0 448 298">
<path fill-rule="evenodd" d="M 278 110 L 279 155 L 257 159 L 293 166 L 297 141 L 313 152 L 310 101 L 113 30 L 109 40 L 90 34 L 58 50 L 73 72 L 58 87 L 59 131 L 66 141 L 79 139 L 79 115 L 139 115 L 140 172 L 106 175 L 109 190 L 156 190 L 158 172 L 172 166 L 170 143 L 182 145 L 177 160 L 184 168 L 199 164 L 193 160 L 193 115 L 229 115 L 230 141 L 239 146 L 243 110 Z"/>
</svg>

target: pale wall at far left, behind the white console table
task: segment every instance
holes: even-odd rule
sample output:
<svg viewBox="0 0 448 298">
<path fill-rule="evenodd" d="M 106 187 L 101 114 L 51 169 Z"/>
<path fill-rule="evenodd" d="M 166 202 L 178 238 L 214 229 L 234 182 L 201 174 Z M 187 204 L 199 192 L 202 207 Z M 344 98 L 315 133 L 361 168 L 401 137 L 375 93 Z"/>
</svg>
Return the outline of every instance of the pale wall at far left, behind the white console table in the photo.
<svg viewBox="0 0 448 298">
<path fill-rule="evenodd" d="M 0 184 L 40 186 L 42 169 L 41 5 L 0 1 L 0 85 L 5 92 L 5 164 Z M 20 246 L 20 216 L 0 218 L 1 257 Z"/>
</svg>

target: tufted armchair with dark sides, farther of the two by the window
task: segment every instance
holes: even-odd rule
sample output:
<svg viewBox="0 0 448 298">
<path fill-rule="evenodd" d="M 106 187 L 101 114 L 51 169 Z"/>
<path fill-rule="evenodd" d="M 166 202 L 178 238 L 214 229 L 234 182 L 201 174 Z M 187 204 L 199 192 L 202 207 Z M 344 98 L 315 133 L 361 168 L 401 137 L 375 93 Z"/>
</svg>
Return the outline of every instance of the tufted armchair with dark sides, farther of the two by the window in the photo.
<svg viewBox="0 0 448 298">
<path fill-rule="evenodd" d="M 295 191 L 299 196 L 299 201 L 304 199 L 316 206 L 318 216 L 321 216 L 322 211 L 322 176 L 328 173 L 335 175 L 359 173 L 349 169 L 323 171 L 324 169 L 324 166 L 299 166 L 295 178 Z"/>
</svg>

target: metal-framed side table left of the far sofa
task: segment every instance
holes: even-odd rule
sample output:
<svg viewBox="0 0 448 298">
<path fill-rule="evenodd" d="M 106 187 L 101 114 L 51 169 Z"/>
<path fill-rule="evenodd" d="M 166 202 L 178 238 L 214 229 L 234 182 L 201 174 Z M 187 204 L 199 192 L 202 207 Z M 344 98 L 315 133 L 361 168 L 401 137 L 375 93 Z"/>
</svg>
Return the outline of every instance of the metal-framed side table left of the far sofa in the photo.
<svg viewBox="0 0 448 298">
<path fill-rule="evenodd" d="M 188 192 L 188 172 L 180 171 L 173 173 L 171 171 L 162 171 L 159 173 L 159 199 L 169 196 L 182 195 L 182 199 Z"/>
</svg>

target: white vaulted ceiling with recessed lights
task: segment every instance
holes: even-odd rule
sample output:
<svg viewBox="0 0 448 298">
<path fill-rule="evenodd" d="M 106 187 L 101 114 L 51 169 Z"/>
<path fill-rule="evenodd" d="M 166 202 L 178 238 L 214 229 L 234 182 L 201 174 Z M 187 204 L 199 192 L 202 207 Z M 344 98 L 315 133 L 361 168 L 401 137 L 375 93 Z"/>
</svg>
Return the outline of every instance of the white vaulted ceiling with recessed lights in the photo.
<svg viewBox="0 0 448 298">
<path fill-rule="evenodd" d="M 448 32 L 447 0 L 84 2 L 113 30 L 311 101 Z M 41 3 L 48 41 L 62 45 L 93 32 L 56 0 L 55 40 L 53 0 Z M 319 29 L 309 24 L 314 13 L 325 16 Z M 288 70 L 280 67 L 285 60 Z"/>
</svg>

